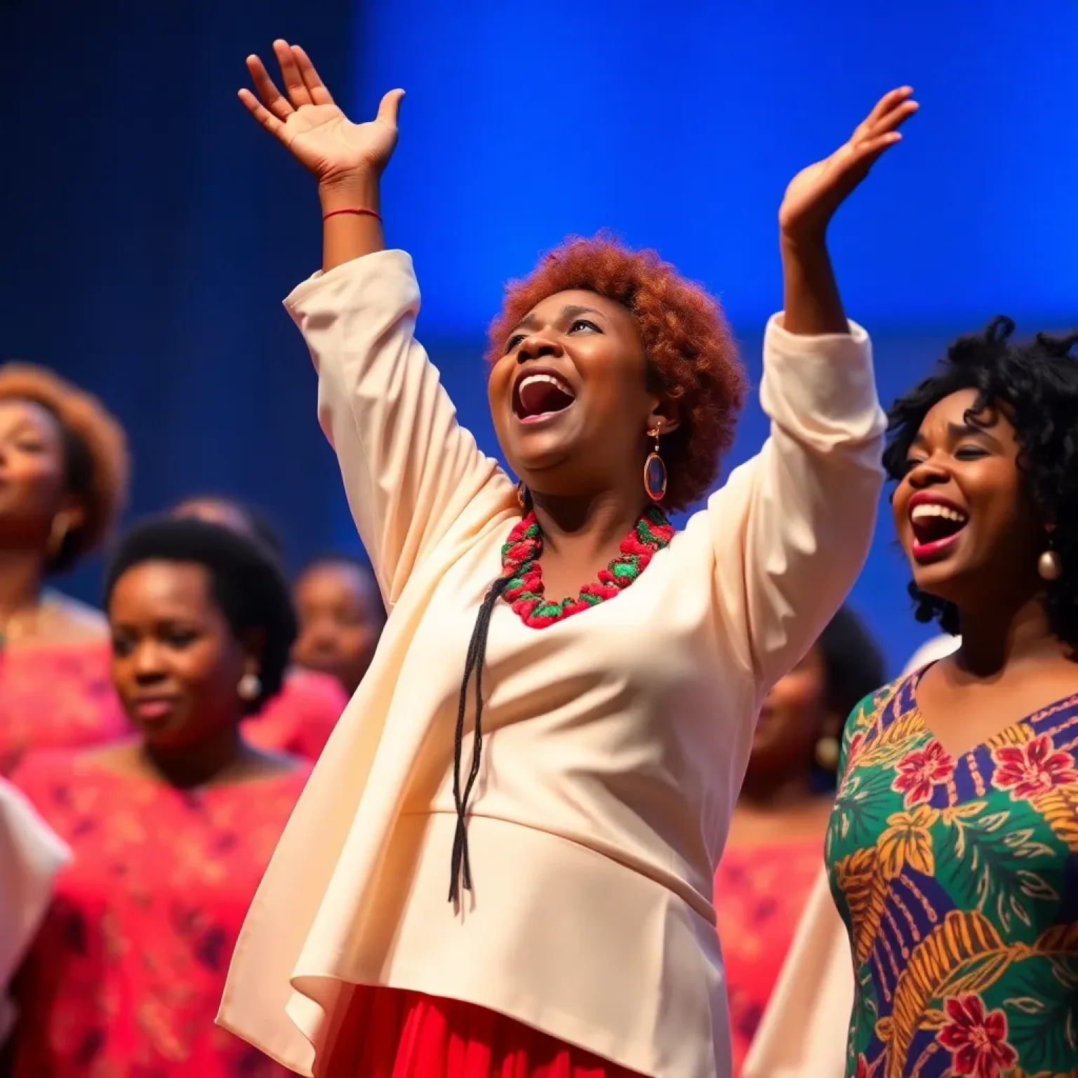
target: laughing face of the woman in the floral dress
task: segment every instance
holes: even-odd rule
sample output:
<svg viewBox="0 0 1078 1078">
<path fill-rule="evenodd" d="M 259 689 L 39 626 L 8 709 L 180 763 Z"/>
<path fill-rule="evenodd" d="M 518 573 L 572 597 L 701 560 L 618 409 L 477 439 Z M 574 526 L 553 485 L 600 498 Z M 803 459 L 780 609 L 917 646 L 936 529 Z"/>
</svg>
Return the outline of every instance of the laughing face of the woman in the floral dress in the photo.
<svg viewBox="0 0 1078 1078">
<path fill-rule="evenodd" d="M 1020 446 L 1001 410 L 970 414 L 964 389 L 925 415 L 892 502 L 916 585 L 966 609 L 1000 589 L 1039 589 L 1045 531 L 1023 494 Z"/>
</svg>

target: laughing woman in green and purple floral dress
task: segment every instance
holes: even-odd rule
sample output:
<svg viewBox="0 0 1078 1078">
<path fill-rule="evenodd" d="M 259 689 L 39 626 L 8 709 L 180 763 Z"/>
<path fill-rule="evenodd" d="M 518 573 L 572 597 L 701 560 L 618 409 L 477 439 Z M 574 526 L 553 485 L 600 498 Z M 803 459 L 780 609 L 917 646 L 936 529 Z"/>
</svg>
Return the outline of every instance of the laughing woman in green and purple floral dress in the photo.
<svg viewBox="0 0 1078 1078">
<path fill-rule="evenodd" d="M 1078 1074 L 1078 334 L 996 319 L 892 411 L 917 617 L 958 651 L 846 727 L 847 1075 Z"/>
</svg>

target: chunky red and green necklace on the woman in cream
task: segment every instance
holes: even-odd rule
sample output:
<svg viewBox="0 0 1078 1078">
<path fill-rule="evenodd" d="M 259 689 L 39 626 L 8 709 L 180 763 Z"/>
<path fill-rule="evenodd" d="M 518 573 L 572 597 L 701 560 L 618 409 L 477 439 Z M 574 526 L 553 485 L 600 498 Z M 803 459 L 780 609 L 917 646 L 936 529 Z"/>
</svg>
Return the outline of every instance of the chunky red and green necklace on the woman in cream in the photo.
<svg viewBox="0 0 1078 1078">
<path fill-rule="evenodd" d="M 573 598 L 551 603 L 547 599 L 542 566 L 542 529 L 535 512 L 527 513 L 510 533 L 509 541 L 501 548 L 502 577 L 509 584 L 502 593 L 520 614 L 525 625 L 545 628 L 556 621 L 598 606 L 624 591 L 648 567 L 655 552 L 669 545 L 674 528 L 658 506 L 649 506 L 636 526 L 621 541 L 621 553 L 599 570 L 598 580 L 584 584 Z"/>
</svg>

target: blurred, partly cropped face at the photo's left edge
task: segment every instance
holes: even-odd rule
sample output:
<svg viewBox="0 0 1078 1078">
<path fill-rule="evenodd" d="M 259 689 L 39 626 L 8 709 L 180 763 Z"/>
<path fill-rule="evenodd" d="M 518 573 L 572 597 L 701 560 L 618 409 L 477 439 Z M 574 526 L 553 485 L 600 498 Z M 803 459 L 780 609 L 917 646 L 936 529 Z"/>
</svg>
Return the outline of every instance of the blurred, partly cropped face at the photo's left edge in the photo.
<svg viewBox="0 0 1078 1078">
<path fill-rule="evenodd" d="M 33 401 L 0 400 L 0 537 L 5 544 L 43 544 L 68 507 L 64 436 L 56 417 Z"/>
</svg>

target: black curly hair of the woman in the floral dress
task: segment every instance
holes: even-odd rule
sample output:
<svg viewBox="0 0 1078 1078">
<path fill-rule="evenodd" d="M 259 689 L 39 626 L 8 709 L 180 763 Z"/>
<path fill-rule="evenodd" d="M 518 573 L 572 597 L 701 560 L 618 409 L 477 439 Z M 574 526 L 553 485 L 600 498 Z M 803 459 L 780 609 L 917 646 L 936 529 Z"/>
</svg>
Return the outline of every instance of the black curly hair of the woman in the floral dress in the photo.
<svg viewBox="0 0 1078 1078">
<path fill-rule="evenodd" d="M 982 333 L 959 337 L 937 372 L 895 402 L 884 468 L 895 482 L 902 479 L 925 415 L 952 393 L 977 391 L 966 413 L 969 420 L 1003 411 L 1018 439 L 1026 497 L 1045 526 L 1052 527 L 1052 548 L 1064 566 L 1060 579 L 1047 585 L 1049 624 L 1061 640 L 1078 646 L 1078 357 L 1072 356 L 1078 332 L 1038 333 L 1019 342 L 1011 340 L 1013 332 L 1014 322 L 1000 315 Z M 917 621 L 935 620 L 944 632 L 959 632 L 952 603 L 915 583 L 909 591 Z"/>
</svg>

